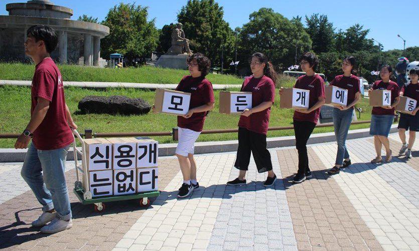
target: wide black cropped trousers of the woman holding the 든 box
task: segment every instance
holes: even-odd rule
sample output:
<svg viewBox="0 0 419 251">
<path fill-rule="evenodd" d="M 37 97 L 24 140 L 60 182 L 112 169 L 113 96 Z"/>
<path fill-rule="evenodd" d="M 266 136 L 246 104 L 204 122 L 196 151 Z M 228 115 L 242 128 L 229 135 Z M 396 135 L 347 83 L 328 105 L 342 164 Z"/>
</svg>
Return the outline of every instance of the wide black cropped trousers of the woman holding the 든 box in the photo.
<svg viewBox="0 0 419 251">
<path fill-rule="evenodd" d="M 266 149 L 266 135 L 248 131 L 245 128 L 238 129 L 238 148 L 234 167 L 247 171 L 250 162 L 250 153 L 253 154 L 254 162 L 259 173 L 272 170 L 272 161 L 269 151 Z"/>
</svg>

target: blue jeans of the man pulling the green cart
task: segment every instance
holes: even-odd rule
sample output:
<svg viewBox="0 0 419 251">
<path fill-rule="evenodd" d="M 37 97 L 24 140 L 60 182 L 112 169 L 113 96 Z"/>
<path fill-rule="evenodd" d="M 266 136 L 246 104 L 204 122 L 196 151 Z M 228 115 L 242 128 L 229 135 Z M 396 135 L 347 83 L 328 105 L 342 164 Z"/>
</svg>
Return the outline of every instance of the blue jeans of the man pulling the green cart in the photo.
<svg viewBox="0 0 419 251">
<path fill-rule="evenodd" d="M 70 199 L 65 182 L 65 161 L 70 146 L 55 150 L 37 150 L 31 143 L 21 175 L 34 192 L 44 212 L 57 211 L 63 220 L 71 219 Z"/>
</svg>

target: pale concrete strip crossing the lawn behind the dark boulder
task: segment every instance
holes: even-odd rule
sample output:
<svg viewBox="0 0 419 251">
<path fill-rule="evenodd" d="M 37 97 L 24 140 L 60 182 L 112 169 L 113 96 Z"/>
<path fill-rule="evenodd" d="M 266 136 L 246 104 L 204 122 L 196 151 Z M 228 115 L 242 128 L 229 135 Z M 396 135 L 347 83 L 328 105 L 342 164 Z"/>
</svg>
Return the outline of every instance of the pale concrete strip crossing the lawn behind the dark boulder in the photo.
<svg viewBox="0 0 419 251">
<path fill-rule="evenodd" d="M 0 85 L 31 86 L 32 81 L 27 80 L 0 80 Z M 148 84 L 148 83 L 123 83 L 123 82 L 73 82 L 64 81 L 65 86 L 88 88 L 138 88 L 138 89 L 175 89 L 178 84 Z M 226 88 L 240 88 L 241 84 L 213 84 L 214 90 Z"/>
</svg>

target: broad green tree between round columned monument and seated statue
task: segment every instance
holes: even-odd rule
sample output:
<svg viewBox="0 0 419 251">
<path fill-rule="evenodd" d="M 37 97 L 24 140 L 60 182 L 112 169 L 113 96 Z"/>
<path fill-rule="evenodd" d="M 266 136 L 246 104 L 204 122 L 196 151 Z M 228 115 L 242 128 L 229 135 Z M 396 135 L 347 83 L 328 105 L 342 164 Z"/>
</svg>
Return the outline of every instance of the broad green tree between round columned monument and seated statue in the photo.
<svg viewBox="0 0 419 251">
<path fill-rule="evenodd" d="M 155 19 L 147 21 L 148 8 L 134 4 L 115 5 L 102 22 L 110 29 L 109 36 L 102 39 L 102 55 L 123 54 L 130 64 L 133 59 L 144 60 L 157 47 L 159 33 Z"/>
</svg>

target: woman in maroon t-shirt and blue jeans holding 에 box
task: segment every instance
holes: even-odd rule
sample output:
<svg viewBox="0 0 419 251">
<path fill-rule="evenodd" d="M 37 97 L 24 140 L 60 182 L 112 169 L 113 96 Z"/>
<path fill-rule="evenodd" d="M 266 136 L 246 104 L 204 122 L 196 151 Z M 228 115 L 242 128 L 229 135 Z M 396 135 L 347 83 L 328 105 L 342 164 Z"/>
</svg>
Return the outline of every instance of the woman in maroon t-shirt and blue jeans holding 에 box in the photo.
<svg viewBox="0 0 419 251">
<path fill-rule="evenodd" d="M 354 105 L 361 99 L 359 79 L 354 75 L 354 67 L 355 58 L 352 56 L 346 57 L 342 62 L 343 75 L 336 76 L 330 83 L 330 85 L 348 90 L 347 105 L 335 106 L 333 109 L 333 125 L 335 127 L 338 151 L 335 166 L 327 172 L 330 175 L 338 174 L 341 168 L 351 165 L 345 142 L 351 126 Z"/>
</svg>

